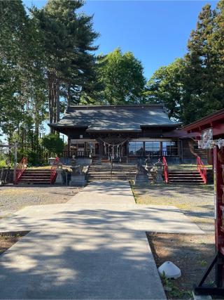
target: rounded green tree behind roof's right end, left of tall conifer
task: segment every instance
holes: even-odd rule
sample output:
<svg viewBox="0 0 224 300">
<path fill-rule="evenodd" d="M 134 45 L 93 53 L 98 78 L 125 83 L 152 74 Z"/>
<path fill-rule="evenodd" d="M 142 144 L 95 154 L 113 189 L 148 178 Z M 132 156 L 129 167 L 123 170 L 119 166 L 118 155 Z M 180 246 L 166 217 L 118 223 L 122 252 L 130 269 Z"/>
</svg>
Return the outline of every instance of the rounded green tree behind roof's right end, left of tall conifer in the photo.
<svg viewBox="0 0 224 300">
<path fill-rule="evenodd" d="M 181 119 L 183 97 L 183 59 L 174 60 L 167 67 L 160 67 L 146 84 L 146 100 L 149 103 L 163 103 L 169 117 Z"/>
</svg>

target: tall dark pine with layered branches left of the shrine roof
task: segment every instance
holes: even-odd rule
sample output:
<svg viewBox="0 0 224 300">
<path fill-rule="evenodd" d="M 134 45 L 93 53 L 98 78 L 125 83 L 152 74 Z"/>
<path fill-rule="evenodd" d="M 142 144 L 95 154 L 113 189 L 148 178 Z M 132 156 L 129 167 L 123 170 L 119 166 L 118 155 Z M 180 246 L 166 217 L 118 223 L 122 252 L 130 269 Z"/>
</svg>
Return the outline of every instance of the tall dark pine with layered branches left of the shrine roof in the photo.
<svg viewBox="0 0 224 300">
<path fill-rule="evenodd" d="M 49 0 L 44 8 L 31 9 L 43 32 L 50 123 L 59 121 L 60 94 L 70 104 L 72 92 L 79 96 L 91 78 L 95 58 L 90 52 L 97 49 L 92 44 L 98 34 L 92 16 L 77 13 L 82 6 L 82 0 Z"/>
</svg>

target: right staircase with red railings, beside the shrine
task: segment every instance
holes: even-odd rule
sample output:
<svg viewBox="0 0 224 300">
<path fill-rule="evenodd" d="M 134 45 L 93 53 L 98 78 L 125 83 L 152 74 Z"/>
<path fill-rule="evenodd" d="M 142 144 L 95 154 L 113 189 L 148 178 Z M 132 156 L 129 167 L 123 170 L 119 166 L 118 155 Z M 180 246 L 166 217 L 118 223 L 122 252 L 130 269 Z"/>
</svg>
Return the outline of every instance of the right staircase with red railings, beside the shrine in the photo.
<svg viewBox="0 0 224 300">
<path fill-rule="evenodd" d="M 169 169 L 169 184 L 204 184 L 197 170 Z"/>
</svg>

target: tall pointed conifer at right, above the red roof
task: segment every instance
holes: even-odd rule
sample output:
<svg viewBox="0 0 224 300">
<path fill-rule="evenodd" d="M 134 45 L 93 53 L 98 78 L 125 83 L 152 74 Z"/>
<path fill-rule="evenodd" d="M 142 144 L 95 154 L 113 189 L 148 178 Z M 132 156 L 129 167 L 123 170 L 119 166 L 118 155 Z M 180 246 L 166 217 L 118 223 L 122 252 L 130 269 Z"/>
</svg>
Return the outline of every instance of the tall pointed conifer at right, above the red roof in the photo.
<svg viewBox="0 0 224 300">
<path fill-rule="evenodd" d="M 214 52 L 212 37 L 214 34 L 215 11 L 209 4 L 202 8 L 188 41 L 188 53 L 185 57 L 185 76 L 183 103 L 183 122 L 193 122 L 214 110 L 221 108 L 216 93 L 217 56 Z"/>
</svg>

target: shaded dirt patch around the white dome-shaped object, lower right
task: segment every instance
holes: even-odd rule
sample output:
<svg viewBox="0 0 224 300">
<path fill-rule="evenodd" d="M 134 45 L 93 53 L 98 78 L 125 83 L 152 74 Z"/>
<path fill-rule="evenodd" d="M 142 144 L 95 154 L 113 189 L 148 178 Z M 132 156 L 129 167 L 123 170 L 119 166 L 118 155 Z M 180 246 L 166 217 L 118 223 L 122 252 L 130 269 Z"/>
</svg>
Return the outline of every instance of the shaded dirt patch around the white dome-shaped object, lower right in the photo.
<svg viewBox="0 0 224 300">
<path fill-rule="evenodd" d="M 193 285 L 202 278 L 215 253 L 214 235 L 147 233 L 147 237 L 158 267 L 172 261 L 181 269 L 181 278 L 162 280 L 167 299 L 193 299 Z M 207 283 L 213 280 L 211 274 Z"/>
</svg>

